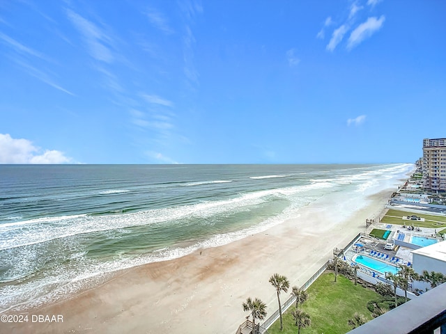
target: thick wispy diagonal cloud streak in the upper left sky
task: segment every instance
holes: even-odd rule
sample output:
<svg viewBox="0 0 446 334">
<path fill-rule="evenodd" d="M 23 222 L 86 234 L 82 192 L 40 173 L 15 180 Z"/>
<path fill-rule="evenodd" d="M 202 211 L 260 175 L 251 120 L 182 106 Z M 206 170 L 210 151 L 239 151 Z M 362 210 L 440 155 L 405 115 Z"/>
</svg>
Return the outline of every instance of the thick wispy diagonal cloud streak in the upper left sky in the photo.
<svg viewBox="0 0 446 334">
<path fill-rule="evenodd" d="M 113 42 L 112 38 L 97 25 L 93 24 L 93 22 L 74 11 L 68 9 L 67 15 L 79 33 L 82 34 L 89 54 L 98 61 L 112 63 L 115 58 L 110 50 Z"/>
</svg>

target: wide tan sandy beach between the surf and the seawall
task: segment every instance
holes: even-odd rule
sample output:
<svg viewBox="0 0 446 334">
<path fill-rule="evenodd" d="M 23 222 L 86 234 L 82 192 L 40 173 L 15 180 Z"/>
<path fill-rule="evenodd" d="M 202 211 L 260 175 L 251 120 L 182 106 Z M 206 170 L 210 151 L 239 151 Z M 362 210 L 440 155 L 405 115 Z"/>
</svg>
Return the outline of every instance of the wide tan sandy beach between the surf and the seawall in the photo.
<svg viewBox="0 0 446 334">
<path fill-rule="evenodd" d="M 370 196 L 361 209 L 354 199 L 334 204 L 333 198 L 321 198 L 265 232 L 119 271 L 100 287 L 29 310 L 25 324 L 0 324 L 0 332 L 236 333 L 248 315 L 242 308 L 247 297 L 264 301 L 267 317 L 277 310 L 275 289 L 268 283 L 273 273 L 289 278 L 291 286 L 305 283 L 334 248 L 344 248 L 366 230 L 366 218 L 382 216 L 393 190 Z M 282 293 L 282 302 L 289 296 Z M 61 315 L 63 322 L 31 322 L 33 315 Z"/>
</svg>

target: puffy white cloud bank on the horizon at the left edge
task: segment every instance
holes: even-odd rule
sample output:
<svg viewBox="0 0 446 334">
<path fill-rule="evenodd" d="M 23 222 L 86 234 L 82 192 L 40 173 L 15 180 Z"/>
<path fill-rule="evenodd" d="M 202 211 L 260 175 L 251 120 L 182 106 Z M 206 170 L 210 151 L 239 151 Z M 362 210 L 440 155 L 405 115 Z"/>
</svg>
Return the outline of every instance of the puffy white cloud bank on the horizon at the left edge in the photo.
<svg viewBox="0 0 446 334">
<path fill-rule="evenodd" d="M 27 139 L 15 139 L 0 134 L 0 164 L 65 164 L 72 162 L 63 152 L 42 150 Z"/>
</svg>

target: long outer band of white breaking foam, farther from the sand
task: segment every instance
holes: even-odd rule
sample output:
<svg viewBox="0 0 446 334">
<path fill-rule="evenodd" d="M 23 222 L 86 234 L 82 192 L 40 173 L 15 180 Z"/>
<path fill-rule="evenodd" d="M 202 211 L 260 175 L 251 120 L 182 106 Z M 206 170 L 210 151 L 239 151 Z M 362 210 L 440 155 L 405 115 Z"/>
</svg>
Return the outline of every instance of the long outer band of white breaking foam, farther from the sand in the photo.
<svg viewBox="0 0 446 334">
<path fill-rule="evenodd" d="M 269 196 L 290 196 L 293 193 L 302 193 L 331 186 L 332 184 L 326 182 L 318 182 L 305 186 L 245 193 L 229 200 L 213 200 L 194 205 L 153 209 L 130 214 L 47 217 L 33 219 L 32 221 L 3 224 L 0 229 L 0 250 L 72 237 L 76 234 L 88 234 L 91 232 L 116 230 L 118 228 L 150 225 L 153 223 L 176 221 L 181 218 L 206 218 L 214 216 L 215 214 L 222 214 L 223 212 L 235 212 L 237 209 L 243 209 L 243 207 L 251 205 L 259 205 L 266 202 Z M 17 227 L 18 225 L 20 225 L 20 229 L 11 229 L 11 227 Z"/>
</svg>

